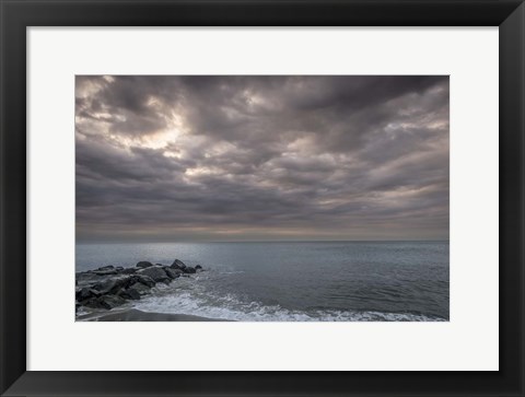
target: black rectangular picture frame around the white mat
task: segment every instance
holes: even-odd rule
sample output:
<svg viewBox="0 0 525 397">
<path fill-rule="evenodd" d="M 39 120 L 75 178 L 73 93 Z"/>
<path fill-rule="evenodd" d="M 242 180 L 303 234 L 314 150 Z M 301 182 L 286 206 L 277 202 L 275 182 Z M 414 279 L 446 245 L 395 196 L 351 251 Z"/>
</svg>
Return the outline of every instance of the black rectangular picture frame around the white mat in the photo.
<svg viewBox="0 0 525 397">
<path fill-rule="evenodd" d="M 525 395 L 523 0 L 0 0 L 0 14 L 2 396 Z M 499 26 L 500 371 L 26 371 L 26 28 L 172 25 Z"/>
</svg>

